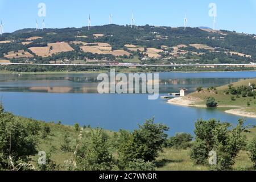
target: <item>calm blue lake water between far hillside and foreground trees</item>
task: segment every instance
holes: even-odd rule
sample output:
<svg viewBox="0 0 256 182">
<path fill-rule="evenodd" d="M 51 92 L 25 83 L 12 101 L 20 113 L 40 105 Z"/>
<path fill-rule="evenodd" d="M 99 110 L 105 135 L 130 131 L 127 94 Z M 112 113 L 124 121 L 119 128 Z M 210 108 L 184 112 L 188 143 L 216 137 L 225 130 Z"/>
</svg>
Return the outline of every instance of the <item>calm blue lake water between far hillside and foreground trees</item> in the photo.
<svg viewBox="0 0 256 182">
<path fill-rule="evenodd" d="M 0 97 L 7 111 L 47 122 L 133 130 L 138 123 L 155 117 L 170 127 L 168 134 L 193 133 L 197 119 L 216 118 L 236 123 L 241 117 L 214 109 L 197 109 L 148 100 L 147 94 L 97 94 L 97 74 L 12 75 L 0 74 Z M 160 73 L 160 93 L 166 95 L 198 86 L 220 86 L 241 78 L 255 78 L 256 72 Z M 246 125 L 256 119 L 246 118 Z"/>
</svg>

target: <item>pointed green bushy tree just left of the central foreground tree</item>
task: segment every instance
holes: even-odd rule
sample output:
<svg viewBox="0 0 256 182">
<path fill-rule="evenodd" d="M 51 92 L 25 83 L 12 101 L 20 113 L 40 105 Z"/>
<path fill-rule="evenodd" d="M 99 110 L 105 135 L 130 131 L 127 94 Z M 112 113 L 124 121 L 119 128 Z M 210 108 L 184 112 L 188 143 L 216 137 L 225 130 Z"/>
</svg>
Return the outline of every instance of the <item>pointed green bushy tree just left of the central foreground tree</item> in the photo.
<svg viewBox="0 0 256 182">
<path fill-rule="evenodd" d="M 77 152 L 77 169 L 85 171 L 110 171 L 114 160 L 110 152 L 108 136 L 97 129 L 91 131 L 91 143 L 84 143 Z"/>
</svg>

